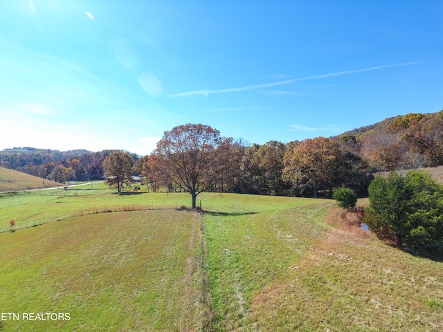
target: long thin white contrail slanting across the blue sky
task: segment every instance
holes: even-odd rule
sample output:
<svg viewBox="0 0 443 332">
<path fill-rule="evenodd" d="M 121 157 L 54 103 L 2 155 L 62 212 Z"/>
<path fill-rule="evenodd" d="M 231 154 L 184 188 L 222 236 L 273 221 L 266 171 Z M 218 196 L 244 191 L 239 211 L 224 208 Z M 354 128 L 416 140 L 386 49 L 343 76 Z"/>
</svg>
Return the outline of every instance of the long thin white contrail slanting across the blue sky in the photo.
<svg viewBox="0 0 443 332">
<path fill-rule="evenodd" d="M 206 95 L 206 96 L 208 96 L 213 93 L 230 93 L 230 92 L 248 91 L 248 90 L 255 90 L 255 89 L 270 88 L 272 86 L 279 86 L 279 85 L 284 85 L 284 84 L 291 84 L 294 82 L 300 82 L 300 81 L 305 81 L 305 80 L 315 80 L 318 78 L 334 77 L 334 76 L 348 75 L 348 74 L 354 74 L 354 73 L 363 73 L 364 71 L 377 71 L 379 69 L 384 69 L 384 68 L 410 66 L 413 64 L 420 64 L 420 63 L 422 63 L 422 62 L 406 62 L 404 64 L 388 64 L 388 65 L 384 65 L 384 66 L 375 66 L 375 67 L 370 67 L 370 68 L 356 69 L 354 71 L 338 71 L 337 73 L 300 77 L 300 78 L 294 78 L 292 80 L 284 80 L 284 81 L 271 82 L 271 83 L 266 83 L 266 84 L 255 84 L 255 85 L 242 86 L 239 88 L 232 88 L 232 89 L 197 90 L 197 91 L 181 92 L 181 93 L 175 93 L 170 96 L 171 97 L 188 97 L 190 95 Z"/>
</svg>

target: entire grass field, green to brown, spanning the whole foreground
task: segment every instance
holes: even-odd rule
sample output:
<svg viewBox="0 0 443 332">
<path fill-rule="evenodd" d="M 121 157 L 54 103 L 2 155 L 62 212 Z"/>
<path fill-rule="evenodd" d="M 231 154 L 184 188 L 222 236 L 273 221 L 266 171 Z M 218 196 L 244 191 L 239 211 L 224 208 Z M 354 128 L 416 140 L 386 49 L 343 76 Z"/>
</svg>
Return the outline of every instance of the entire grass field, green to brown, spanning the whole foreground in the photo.
<svg viewBox="0 0 443 332">
<path fill-rule="evenodd" d="M 332 228 L 332 201 L 87 189 L 0 197 L 0 312 L 71 317 L 0 331 L 443 330 L 442 262 Z"/>
</svg>

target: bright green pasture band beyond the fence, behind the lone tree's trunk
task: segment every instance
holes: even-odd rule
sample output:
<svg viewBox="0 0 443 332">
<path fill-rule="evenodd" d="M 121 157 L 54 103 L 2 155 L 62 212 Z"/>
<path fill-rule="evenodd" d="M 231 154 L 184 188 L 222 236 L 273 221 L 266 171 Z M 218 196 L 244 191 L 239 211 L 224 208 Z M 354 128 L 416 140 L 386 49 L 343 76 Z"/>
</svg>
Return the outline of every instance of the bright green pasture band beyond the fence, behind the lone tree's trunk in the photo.
<svg viewBox="0 0 443 332">
<path fill-rule="evenodd" d="M 262 212 L 270 206 L 284 209 L 294 204 L 294 199 L 289 197 L 274 197 L 269 200 L 268 196 L 242 194 L 205 193 L 201 194 L 200 199 L 202 208 L 212 212 Z M 104 183 L 85 183 L 69 190 L 1 194 L 0 232 L 9 230 L 12 219 L 16 222 L 15 228 L 19 229 L 102 212 L 177 209 L 182 206 L 190 206 L 189 194 L 143 191 L 118 194 Z"/>
</svg>

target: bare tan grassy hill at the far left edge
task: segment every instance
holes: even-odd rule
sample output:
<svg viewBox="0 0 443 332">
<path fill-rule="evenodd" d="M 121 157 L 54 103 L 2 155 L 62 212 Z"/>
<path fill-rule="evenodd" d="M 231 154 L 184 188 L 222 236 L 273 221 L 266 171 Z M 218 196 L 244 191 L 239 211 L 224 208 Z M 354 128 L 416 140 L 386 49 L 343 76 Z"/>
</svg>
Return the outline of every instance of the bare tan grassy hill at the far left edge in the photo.
<svg viewBox="0 0 443 332">
<path fill-rule="evenodd" d="M 0 192 L 58 187 L 60 183 L 0 167 Z"/>
</svg>

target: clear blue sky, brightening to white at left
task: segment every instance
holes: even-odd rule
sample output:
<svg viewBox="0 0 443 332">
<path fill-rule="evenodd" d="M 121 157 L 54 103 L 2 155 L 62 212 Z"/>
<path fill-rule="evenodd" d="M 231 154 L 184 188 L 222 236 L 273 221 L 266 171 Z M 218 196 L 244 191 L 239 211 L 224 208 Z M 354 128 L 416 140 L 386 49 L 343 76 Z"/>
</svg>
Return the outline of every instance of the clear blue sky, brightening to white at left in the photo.
<svg viewBox="0 0 443 332">
<path fill-rule="evenodd" d="M 126 149 L 204 123 L 263 144 L 443 109 L 442 1 L 15 0 L 0 149 Z"/>
</svg>

